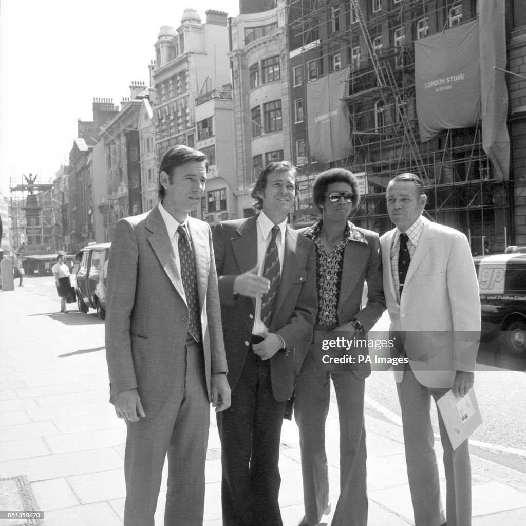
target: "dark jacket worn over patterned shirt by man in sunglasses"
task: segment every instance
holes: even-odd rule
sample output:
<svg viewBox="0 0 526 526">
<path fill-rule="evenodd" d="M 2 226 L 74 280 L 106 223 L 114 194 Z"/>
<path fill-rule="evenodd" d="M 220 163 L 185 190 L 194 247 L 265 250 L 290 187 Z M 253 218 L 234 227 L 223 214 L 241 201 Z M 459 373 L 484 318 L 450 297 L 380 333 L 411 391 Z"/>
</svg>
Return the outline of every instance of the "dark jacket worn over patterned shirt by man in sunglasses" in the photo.
<svg viewBox="0 0 526 526">
<path fill-rule="evenodd" d="M 386 300 L 383 296 L 382 258 L 380 255 L 380 240 L 378 234 L 371 230 L 356 227 L 349 221 L 350 228 L 359 232 L 365 242 L 349 241 L 343 249 L 343 271 L 341 275 L 340 297 L 338 300 L 338 323 L 346 323 L 357 318 L 369 331 L 386 310 Z M 312 233 L 312 227 L 298 230 L 307 237 Z M 361 308 L 363 283 L 367 281 L 367 304 Z M 337 337 L 335 333 L 335 337 Z M 360 349 L 366 353 L 367 348 Z M 326 353 L 326 352 L 325 352 Z M 366 378 L 371 373 L 369 363 L 349 365 L 359 378 Z"/>
</svg>

